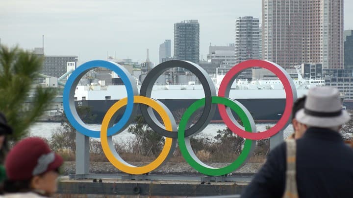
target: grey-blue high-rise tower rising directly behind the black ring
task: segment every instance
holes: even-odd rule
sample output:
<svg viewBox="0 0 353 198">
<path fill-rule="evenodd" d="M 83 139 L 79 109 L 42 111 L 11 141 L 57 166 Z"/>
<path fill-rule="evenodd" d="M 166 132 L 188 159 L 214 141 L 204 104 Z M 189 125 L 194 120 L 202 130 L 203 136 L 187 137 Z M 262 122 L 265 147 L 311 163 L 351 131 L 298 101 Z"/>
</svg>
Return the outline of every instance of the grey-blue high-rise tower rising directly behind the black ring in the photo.
<svg viewBox="0 0 353 198">
<path fill-rule="evenodd" d="M 174 24 L 174 58 L 199 63 L 200 24 L 198 20 Z"/>
</svg>

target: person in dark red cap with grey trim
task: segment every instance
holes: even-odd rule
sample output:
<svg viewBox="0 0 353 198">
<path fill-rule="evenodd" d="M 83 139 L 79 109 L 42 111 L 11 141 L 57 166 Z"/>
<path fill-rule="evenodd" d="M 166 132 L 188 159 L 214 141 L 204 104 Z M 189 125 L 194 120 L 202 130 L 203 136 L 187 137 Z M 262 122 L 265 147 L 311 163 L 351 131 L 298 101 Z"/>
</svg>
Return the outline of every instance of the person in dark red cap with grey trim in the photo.
<svg viewBox="0 0 353 198">
<path fill-rule="evenodd" d="M 18 142 L 5 159 L 5 198 L 50 197 L 57 190 L 58 169 L 63 159 L 39 137 Z"/>
</svg>

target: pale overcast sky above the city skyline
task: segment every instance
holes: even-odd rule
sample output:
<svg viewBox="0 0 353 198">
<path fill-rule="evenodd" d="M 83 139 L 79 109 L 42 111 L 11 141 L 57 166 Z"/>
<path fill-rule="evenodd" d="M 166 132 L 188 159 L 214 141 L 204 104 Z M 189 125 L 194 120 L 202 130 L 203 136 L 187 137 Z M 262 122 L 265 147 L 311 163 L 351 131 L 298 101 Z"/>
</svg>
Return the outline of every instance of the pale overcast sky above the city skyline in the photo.
<svg viewBox="0 0 353 198">
<path fill-rule="evenodd" d="M 353 29 L 353 0 L 345 0 L 345 29 Z M 174 23 L 199 20 L 200 58 L 208 46 L 234 43 L 235 19 L 261 17 L 261 0 L 0 0 L 1 44 L 42 46 L 46 55 L 107 54 L 158 64 L 159 44 L 172 40 Z M 261 20 L 261 19 L 260 19 Z"/>
</svg>

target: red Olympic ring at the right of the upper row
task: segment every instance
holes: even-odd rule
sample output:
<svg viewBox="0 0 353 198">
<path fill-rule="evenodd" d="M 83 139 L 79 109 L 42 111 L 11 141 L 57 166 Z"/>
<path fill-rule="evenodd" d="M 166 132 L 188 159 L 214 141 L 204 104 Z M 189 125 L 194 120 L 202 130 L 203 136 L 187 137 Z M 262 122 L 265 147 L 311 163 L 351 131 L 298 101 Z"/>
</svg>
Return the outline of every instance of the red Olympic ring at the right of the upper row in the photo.
<svg viewBox="0 0 353 198">
<path fill-rule="evenodd" d="M 223 121 L 225 122 L 227 127 L 232 132 L 234 132 L 235 134 L 237 134 L 241 137 L 247 138 L 247 139 L 259 140 L 259 139 L 265 139 L 265 138 L 271 137 L 272 135 L 274 135 L 277 132 L 279 132 L 280 130 L 282 130 L 283 127 L 287 124 L 287 122 L 291 116 L 291 112 L 292 112 L 293 101 L 294 101 L 293 90 L 295 90 L 295 87 L 294 87 L 294 84 L 292 87 L 292 85 L 289 82 L 289 79 L 283 73 L 284 69 L 282 67 L 278 66 L 277 64 L 269 62 L 269 61 L 249 60 L 249 61 L 239 63 L 236 66 L 233 66 L 227 72 L 227 74 L 225 75 L 225 77 L 223 78 L 223 80 L 221 82 L 220 88 L 218 90 L 218 96 L 228 98 L 229 94 L 227 96 L 225 96 L 225 92 L 227 89 L 227 85 L 229 83 L 233 83 L 232 78 L 236 74 L 238 74 L 239 72 L 243 71 L 244 69 L 251 68 L 254 66 L 266 68 L 266 69 L 272 71 L 283 84 L 283 87 L 284 87 L 284 90 L 286 93 L 286 105 L 285 105 L 282 117 L 279 119 L 277 124 L 275 126 L 273 126 L 271 129 L 264 131 L 264 132 L 255 132 L 255 133 L 246 132 L 246 131 L 240 129 L 239 127 L 237 127 L 236 125 L 234 125 L 234 123 L 230 120 L 230 118 L 227 114 L 227 111 L 226 111 L 226 107 L 224 105 L 218 104 L 218 109 L 219 109 L 219 112 L 220 112 L 220 115 L 221 115 Z"/>
</svg>

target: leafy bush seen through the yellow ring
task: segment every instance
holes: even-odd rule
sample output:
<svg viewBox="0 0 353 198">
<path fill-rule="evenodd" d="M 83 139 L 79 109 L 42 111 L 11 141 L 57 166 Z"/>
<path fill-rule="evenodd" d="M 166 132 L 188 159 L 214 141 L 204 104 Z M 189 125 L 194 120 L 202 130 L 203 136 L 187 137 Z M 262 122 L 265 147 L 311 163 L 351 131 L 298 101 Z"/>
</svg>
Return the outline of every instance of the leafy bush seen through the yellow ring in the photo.
<svg viewBox="0 0 353 198">
<path fill-rule="evenodd" d="M 136 135 L 140 154 L 157 156 L 162 151 L 164 138 L 147 125 L 142 115 L 136 116 L 135 125 L 130 126 L 127 131 Z"/>
</svg>

